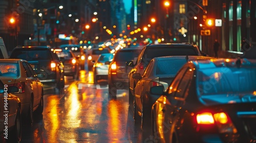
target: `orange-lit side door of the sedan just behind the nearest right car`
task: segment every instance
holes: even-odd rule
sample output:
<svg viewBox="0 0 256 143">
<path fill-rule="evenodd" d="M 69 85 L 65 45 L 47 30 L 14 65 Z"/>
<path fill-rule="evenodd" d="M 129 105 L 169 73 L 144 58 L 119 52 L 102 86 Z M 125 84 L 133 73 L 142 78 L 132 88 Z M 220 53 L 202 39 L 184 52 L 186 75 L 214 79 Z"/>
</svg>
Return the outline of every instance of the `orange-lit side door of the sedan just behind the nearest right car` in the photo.
<svg viewBox="0 0 256 143">
<path fill-rule="evenodd" d="M 135 103 L 137 105 L 137 109 L 138 111 L 141 112 L 141 108 L 142 108 L 142 92 L 145 92 L 144 90 L 146 90 L 144 87 L 144 83 L 147 81 L 147 78 L 148 78 L 148 74 L 150 73 L 150 71 L 152 70 L 153 68 L 153 61 L 150 62 L 150 64 L 148 64 L 148 66 L 146 67 L 143 75 L 142 75 L 142 79 L 140 79 L 137 84 L 136 84 L 136 87 L 134 88 L 135 90 Z"/>
</svg>

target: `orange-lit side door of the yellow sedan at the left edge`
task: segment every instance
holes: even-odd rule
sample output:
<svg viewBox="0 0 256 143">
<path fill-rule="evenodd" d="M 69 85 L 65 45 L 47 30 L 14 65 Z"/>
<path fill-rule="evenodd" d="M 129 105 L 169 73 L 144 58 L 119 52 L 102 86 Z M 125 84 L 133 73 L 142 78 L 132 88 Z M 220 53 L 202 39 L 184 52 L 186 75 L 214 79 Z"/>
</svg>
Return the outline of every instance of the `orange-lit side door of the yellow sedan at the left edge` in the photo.
<svg viewBox="0 0 256 143">
<path fill-rule="evenodd" d="M 26 73 L 26 76 L 27 76 L 27 80 L 26 80 L 26 88 L 29 89 L 30 93 L 27 93 L 27 94 L 31 94 L 33 92 L 33 95 L 34 95 L 34 102 L 33 102 L 33 107 L 35 105 L 37 105 L 37 102 L 38 102 L 38 90 L 37 90 L 37 79 L 34 77 L 34 73 L 31 73 L 31 70 L 29 69 L 29 63 L 23 61 L 22 62 L 22 65 L 25 69 L 25 73 Z M 30 68 L 32 69 L 32 67 L 30 66 Z M 33 69 L 32 69 L 33 70 Z"/>
</svg>

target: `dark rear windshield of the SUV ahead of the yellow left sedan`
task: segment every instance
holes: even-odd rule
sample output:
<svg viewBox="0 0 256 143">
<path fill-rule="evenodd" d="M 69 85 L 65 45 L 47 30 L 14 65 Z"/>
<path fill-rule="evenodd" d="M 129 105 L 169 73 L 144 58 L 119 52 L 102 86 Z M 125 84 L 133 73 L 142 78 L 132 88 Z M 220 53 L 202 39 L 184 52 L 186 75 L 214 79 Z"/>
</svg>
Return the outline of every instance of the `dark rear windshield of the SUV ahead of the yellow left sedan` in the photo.
<svg viewBox="0 0 256 143">
<path fill-rule="evenodd" d="M 48 49 L 16 49 L 10 58 L 33 60 L 51 60 L 51 53 Z"/>
</svg>

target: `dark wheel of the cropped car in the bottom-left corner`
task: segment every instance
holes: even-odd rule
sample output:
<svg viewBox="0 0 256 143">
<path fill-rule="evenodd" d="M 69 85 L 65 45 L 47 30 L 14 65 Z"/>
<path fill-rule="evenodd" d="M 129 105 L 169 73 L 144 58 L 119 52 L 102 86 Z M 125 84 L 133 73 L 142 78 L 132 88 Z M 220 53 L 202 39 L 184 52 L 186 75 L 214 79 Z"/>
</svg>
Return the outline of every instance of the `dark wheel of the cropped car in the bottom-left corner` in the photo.
<svg viewBox="0 0 256 143">
<path fill-rule="evenodd" d="M 16 118 L 15 118 L 15 125 L 13 129 L 10 131 L 10 136 L 7 142 L 20 142 L 22 139 L 22 115 L 20 113 L 20 108 L 18 107 Z"/>
</svg>

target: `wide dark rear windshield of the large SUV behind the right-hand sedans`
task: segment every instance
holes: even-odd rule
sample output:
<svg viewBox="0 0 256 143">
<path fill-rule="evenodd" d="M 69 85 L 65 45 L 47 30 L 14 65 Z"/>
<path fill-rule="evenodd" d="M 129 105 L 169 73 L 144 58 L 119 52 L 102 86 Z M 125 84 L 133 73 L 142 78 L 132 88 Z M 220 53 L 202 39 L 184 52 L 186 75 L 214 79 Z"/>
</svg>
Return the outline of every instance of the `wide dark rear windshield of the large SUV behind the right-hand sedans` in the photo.
<svg viewBox="0 0 256 143">
<path fill-rule="evenodd" d="M 194 49 L 194 47 L 164 47 L 164 48 L 148 48 L 146 54 L 144 55 L 144 59 L 149 62 L 151 59 L 155 57 L 163 57 L 163 56 L 198 56 L 198 52 Z"/>
</svg>

